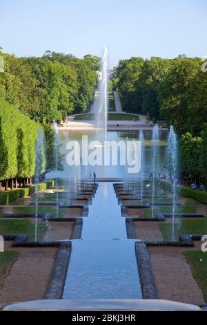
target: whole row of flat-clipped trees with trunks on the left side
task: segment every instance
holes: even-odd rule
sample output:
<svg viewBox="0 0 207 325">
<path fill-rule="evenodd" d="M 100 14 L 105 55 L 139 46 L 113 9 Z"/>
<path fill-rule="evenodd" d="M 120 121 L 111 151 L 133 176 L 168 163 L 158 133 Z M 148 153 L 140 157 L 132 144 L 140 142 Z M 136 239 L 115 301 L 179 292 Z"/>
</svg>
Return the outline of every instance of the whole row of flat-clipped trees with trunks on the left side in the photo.
<svg viewBox="0 0 207 325">
<path fill-rule="evenodd" d="M 58 155 L 56 166 L 55 155 Z M 60 144 L 49 124 L 39 124 L 0 99 L 0 191 L 23 187 L 61 170 Z"/>
</svg>

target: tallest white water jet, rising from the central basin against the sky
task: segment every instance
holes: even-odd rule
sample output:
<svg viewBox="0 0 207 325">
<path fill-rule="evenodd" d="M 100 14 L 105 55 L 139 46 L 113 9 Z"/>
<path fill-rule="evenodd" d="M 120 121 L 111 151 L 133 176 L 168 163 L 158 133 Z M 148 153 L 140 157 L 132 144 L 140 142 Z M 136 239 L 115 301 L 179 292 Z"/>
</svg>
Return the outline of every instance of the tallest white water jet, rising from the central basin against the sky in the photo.
<svg viewBox="0 0 207 325">
<path fill-rule="evenodd" d="M 108 48 L 105 46 L 99 72 L 98 96 L 91 108 L 91 113 L 95 114 L 96 128 L 104 130 L 105 140 L 107 140 L 108 84 Z"/>
</svg>

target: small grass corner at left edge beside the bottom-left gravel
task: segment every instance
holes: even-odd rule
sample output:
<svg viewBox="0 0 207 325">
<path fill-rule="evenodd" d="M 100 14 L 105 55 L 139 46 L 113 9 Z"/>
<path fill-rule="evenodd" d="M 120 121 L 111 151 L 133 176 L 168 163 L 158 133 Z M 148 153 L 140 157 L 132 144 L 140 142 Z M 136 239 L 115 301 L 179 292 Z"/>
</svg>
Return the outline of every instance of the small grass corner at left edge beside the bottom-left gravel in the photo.
<svg viewBox="0 0 207 325">
<path fill-rule="evenodd" d="M 3 279 L 10 272 L 10 268 L 12 267 L 13 263 L 17 260 L 18 255 L 19 252 L 14 250 L 0 252 L 0 287 L 3 284 Z"/>
</svg>

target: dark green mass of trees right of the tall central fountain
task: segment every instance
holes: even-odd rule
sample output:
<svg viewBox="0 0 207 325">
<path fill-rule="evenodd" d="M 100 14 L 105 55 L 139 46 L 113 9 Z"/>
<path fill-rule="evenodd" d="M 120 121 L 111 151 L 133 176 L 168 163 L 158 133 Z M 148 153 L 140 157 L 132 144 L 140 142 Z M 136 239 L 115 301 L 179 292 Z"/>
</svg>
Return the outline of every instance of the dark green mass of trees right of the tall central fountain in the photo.
<svg viewBox="0 0 207 325">
<path fill-rule="evenodd" d="M 181 176 L 207 178 L 207 73 L 199 57 L 120 60 L 112 71 L 124 111 L 166 120 L 179 136 Z"/>
</svg>

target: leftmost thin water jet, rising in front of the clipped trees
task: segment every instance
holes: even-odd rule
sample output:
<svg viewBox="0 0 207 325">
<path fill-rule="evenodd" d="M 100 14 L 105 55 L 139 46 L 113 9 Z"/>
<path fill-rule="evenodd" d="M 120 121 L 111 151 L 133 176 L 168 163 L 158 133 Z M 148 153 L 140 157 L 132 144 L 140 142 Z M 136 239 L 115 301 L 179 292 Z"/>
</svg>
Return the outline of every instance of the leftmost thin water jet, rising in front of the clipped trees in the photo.
<svg viewBox="0 0 207 325">
<path fill-rule="evenodd" d="M 34 222 L 34 241 L 37 241 L 37 218 L 38 218 L 38 184 L 41 174 L 45 171 L 44 160 L 44 133 L 42 129 L 38 130 L 37 140 L 35 143 L 35 222 Z"/>
</svg>

